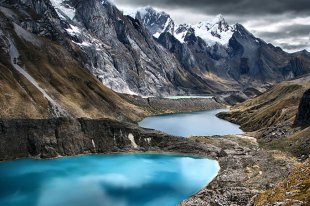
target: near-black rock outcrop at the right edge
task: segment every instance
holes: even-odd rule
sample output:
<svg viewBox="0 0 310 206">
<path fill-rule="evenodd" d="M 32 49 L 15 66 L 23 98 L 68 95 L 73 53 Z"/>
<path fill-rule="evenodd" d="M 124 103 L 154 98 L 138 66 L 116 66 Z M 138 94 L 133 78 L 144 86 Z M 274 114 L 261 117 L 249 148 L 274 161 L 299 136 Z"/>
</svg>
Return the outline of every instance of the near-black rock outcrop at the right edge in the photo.
<svg viewBox="0 0 310 206">
<path fill-rule="evenodd" d="M 301 98 L 295 125 L 310 125 L 310 89 Z"/>
</svg>

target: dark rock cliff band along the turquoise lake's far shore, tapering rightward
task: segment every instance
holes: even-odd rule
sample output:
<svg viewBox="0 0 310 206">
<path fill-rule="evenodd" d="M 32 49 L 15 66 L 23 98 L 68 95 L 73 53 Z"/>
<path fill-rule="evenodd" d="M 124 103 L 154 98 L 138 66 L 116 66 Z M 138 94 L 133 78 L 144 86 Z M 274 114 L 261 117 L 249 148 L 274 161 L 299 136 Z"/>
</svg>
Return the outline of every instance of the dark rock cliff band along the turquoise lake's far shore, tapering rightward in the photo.
<svg viewBox="0 0 310 206">
<path fill-rule="evenodd" d="M 0 160 L 134 151 L 215 157 L 220 150 L 108 119 L 0 120 Z"/>
</svg>

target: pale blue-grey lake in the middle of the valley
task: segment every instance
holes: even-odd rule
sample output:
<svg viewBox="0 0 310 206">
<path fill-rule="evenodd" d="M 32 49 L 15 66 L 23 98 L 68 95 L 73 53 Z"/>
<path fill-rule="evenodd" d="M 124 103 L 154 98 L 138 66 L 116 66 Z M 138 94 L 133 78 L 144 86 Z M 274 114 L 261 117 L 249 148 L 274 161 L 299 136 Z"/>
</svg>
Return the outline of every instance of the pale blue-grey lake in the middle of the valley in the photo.
<svg viewBox="0 0 310 206">
<path fill-rule="evenodd" d="M 223 111 L 228 110 L 216 109 L 151 116 L 139 122 L 139 126 L 181 137 L 242 134 L 243 131 L 239 125 L 216 116 Z"/>
</svg>

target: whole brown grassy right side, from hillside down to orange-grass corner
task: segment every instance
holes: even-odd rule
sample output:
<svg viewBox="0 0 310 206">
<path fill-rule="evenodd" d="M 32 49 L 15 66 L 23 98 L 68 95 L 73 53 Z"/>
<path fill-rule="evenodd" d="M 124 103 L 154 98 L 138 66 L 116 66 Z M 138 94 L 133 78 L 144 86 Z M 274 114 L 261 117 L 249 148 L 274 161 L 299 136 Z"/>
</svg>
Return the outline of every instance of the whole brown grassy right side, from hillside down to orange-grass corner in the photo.
<svg viewBox="0 0 310 206">
<path fill-rule="evenodd" d="M 310 127 L 293 125 L 304 92 L 310 87 L 310 77 L 282 82 L 268 92 L 236 105 L 229 113 L 219 116 L 239 123 L 245 131 L 258 138 L 261 147 L 309 157 Z M 279 131 L 286 131 L 279 133 Z M 310 204 L 309 159 L 294 169 L 291 175 L 275 188 L 260 194 L 254 205 Z"/>
</svg>

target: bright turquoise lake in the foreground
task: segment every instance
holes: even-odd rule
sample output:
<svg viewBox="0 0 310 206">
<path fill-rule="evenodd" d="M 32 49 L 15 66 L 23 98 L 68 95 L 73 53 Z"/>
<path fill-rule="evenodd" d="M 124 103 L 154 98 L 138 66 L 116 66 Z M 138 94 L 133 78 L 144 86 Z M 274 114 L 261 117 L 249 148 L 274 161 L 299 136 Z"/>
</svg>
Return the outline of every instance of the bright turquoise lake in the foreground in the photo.
<svg viewBox="0 0 310 206">
<path fill-rule="evenodd" d="M 0 163 L 3 206 L 173 206 L 206 186 L 217 161 L 119 154 Z"/>
</svg>

